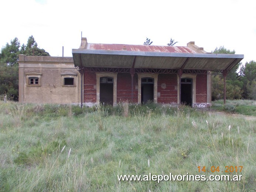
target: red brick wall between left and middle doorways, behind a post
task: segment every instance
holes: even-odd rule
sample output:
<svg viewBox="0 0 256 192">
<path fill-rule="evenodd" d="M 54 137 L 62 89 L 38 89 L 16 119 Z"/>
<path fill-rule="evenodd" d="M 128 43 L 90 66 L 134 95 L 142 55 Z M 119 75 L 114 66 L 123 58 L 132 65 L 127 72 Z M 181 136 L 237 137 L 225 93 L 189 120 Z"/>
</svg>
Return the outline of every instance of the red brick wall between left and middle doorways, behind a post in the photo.
<svg viewBox="0 0 256 192">
<path fill-rule="evenodd" d="M 133 103 L 138 102 L 138 76 L 133 76 Z M 117 74 L 117 103 L 120 101 L 132 100 L 132 76 L 130 73 L 118 73 Z"/>
</svg>

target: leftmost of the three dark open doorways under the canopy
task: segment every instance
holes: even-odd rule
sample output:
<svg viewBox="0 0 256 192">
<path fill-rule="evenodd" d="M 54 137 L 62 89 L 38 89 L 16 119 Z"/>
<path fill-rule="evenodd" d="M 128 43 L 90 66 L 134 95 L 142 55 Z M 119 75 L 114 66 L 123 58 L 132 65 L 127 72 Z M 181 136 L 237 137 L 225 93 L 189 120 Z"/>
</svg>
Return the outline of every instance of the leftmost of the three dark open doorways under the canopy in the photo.
<svg viewBox="0 0 256 192">
<path fill-rule="evenodd" d="M 113 105 L 113 78 L 100 78 L 100 103 Z"/>
</svg>

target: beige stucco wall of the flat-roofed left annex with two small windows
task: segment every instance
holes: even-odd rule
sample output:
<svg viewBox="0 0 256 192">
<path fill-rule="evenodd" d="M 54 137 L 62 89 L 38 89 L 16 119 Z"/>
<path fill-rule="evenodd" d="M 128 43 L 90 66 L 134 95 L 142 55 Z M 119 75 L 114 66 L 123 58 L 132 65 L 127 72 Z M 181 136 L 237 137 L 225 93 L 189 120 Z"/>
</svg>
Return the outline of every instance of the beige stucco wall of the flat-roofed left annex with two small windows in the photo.
<svg viewBox="0 0 256 192">
<path fill-rule="evenodd" d="M 19 101 L 21 103 L 79 103 L 80 74 L 72 57 L 19 55 Z M 41 74 L 40 86 L 28 85 L 28 77 Z M 64 86 L 64 77 L 75 86 Z"/>
</svg>

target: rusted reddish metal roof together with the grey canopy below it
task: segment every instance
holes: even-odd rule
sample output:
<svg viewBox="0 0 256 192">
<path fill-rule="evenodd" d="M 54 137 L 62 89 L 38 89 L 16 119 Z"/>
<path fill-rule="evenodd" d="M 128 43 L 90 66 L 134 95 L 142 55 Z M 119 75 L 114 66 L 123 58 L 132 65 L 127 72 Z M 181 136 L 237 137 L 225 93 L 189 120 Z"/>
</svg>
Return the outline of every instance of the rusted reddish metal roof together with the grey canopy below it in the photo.
<svg viewBox="0 0 256 192">
<path fill-rule="evenodd" d="M 197 53 L 189 47 L 89 43 L 85 45 L 85 48 L 72 49 L 75 66 L 230 70 L 243 59 L 243 55 L 236 54 Z"/>
</svg>

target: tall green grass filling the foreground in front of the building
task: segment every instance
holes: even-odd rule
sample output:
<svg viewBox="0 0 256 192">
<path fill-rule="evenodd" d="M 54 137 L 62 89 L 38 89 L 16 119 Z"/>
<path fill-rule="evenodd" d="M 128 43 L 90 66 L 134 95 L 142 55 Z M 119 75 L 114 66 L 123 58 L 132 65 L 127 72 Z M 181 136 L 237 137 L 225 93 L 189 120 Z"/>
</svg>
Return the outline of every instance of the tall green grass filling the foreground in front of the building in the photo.
<svg viewBox="0 0 256 192">
<path fill-rule="evenodd" d="M 81 110 L 1 102 L 0 191 L 255 191 L 255 124 L 185 106 Z M 219 172 L 212 173 L 212 166 Z M 242 172 L 231 166 L 243 166 Z M 242 180 L 117 179 L 150 173 L 242 175 Z"/>
</svg>

